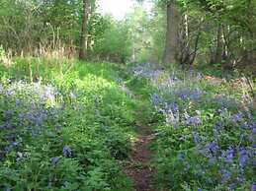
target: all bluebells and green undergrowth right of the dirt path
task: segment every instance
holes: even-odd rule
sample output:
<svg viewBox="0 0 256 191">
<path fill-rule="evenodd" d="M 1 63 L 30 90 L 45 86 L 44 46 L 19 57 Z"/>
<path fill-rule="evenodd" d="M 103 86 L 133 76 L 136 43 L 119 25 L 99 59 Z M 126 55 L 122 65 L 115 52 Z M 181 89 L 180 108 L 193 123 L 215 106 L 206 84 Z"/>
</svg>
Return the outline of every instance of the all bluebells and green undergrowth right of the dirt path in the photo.
<svg viewBox="0 0 256 191">
<path fill-rule="evenodd" d="M 229 96 L 223 91 L 225 82 L 206 82 L 193 71 L 183 79 L 169 74 L 165 82 L 150 66 L 135 68 L 135 75 L 155 86 L 151 103 L 164 116 L 155 130 L 159 187 L 255 190 L 256 113 L 251 99 Z"/>
</svg>

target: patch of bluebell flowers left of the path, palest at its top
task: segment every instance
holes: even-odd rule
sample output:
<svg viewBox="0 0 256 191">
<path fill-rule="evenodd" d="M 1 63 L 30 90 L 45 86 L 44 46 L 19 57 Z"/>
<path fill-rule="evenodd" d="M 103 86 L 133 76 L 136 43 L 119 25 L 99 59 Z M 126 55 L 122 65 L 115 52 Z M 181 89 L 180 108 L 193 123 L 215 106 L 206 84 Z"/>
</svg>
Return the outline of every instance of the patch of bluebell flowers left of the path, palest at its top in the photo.
<svg viewBox="0 0 256 191">
<path fill-rule="evenodd" d="M 25 82 L 1 85 L 0 90 L 0 160 L 16 153 L 16 161 L 25 158 L 23 146 L 28 139 L 37 139 L 45 132 L 57 136 L 60 126 L 57 124 L 62 105 L 61 95 L 56 88 L 39 83 Z M 8 108 L 6 110 L 6 108 Z M 48 124 L 56 124 L 48 128 Z M 70 157 L 68 148 L 65 156 Z"/>
</svg>

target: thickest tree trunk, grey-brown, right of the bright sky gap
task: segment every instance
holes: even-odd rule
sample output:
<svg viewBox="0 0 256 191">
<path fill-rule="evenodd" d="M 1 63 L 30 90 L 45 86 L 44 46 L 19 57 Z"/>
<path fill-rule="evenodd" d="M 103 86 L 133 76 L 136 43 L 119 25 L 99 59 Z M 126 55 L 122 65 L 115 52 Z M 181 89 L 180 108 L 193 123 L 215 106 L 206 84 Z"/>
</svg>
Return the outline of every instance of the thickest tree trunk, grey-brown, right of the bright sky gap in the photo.
<svg viewBox="0 0 256 191">
<path fill-rule="evenodd" d="M 165 41 L 165 51 L 163 55 L 164 64 L 174 64 L 178 62 L 179 47 L 179 12 L 175 3 L 167 5 L 167 32 Z"/>
</svg>

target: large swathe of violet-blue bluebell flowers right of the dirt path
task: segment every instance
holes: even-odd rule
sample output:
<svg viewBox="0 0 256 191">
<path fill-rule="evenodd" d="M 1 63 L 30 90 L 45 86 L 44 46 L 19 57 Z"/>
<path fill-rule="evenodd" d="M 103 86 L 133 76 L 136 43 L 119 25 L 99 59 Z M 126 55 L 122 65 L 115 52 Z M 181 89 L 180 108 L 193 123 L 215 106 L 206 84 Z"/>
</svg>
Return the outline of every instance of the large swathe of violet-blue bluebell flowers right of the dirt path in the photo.
<svg viewBox="0 0 256 191">
<path fill-rule="evenodd" d="M 187 159 L 186 157 L 180 158 L 181 154 L 189 155 L 187 152 L 190 150 L 186 153 L 180 151 L 177 156 L 174 156 L 173 154 L 179 150 L 179 148 L 176 148 L 170 157 L 187 163 L 184 170 L 188 172 L 191 170 L 197 174 L 196 180 L 193 179 L 193 175 L 188 178 L 182 173 L 183 170 L 176 169 L 176 166 L 170 169 L 170 173 L 173 174 L 175 171 L 175 173 L 180 173 L 178 176 L 182 177 L 184 175 L 186 179 L 191 178 L 191 181 L 185 184 L 185 187 L 190 189 L 192 189 L 192 182 L 201 182 L 200 188 L 198 188 L 199 185 L 195 185 L 193 188 L 198 190 L 216 188 L 220 190 L 256 190 L 256 116 L 250 103 L 244 105 L 246 101 L 243 101 L 242 98 L 238 100 L 227 95 L 215 95 L 211 90 L 204 92 L 200 86 L 196 89 L 191 88 L 189 82 L 182 82 L 182 86 L 179 86 L 181 81 L 174 76 L 171 76 L 171 80 L 166 78 L 164 82 L 159 82 L 159 76 L 166 75 L 166 71 L 158 71 L 148 65 L 145 68 L 140 66 L 138 71 L 135 75 L 147 78 L 157 88 L 157 91 L 151 96 L 151 102 L 156 111 L 165 116 L 166 123 L 174 127 L 188 128 L 188 130 L 184 129 L 184 132 L 191 132 L 192 143 L 195 146 L 193 149 L 198 154 L 195 159 L 191 159 L 189 156 Z M 187 77 L 187 81 L 202 82 L 204 80 L 201 74 L 194 71 L 189 73 Z M 162 88 L 162 85 L 165 88 Z M 218 89 L 217 86 L 215 89 Z M 169 100 L 179 101 L 174 103 Z M 208 104 L 207 107 L 212 109 L 211 115 L 207 115 L 203 120 L 202 116 L 192 114 L 195 111 L 190 110 L 192 109 L 190 101 L 194 101 L 195 106 L 205 102 Z M 180 105 L 180 102 L 183 105 Z M 239 107 L 241 104 L 243 104 L 243 109 Z M 201 109 L 201 113 L 204 114 L 204 107 L 197 107 L 197 109 Z M 177 134 L 180 132 L 181 130 Z M 176 134 L 176 132 L 173 132 L 173 134 Z M 181 137 L 186 136 L 179 134 L 179 139 L 177 139 L 181 141 L 180 144 L 177 143 L 179 147 L 189 142 L 189 139 L 181 139 Z M 159 137 L 159 139 L 162 139 L 163 147 L 166 148 L 166 140 L 163 137 Z M 188 145 L 191 146 L 191 144 Z M 170 150 L 161 150 L 161 148 L 159 148 L 159 151 L 163 153 L 165 151 L 170 152 Z M 163 154 L 163 156 L 169 156 L 169 154 Z M 160 166 L 166 172 L 166 169 L 170 168 L 169 165 L 171 165 L 169 162 L 173 162 L 173 159 L 164 159 L 164 161 L 166 163 L 161 163 Z M 166 172 L 165 175 L 168 176 L 168 173 Z M 199 177 L 202 177 L 202 179 Z M 173 182 L 176 185 L 183 183 L 184 179 Z M 176 189 L 180 188 L 176 187 Z"/>
</svg>

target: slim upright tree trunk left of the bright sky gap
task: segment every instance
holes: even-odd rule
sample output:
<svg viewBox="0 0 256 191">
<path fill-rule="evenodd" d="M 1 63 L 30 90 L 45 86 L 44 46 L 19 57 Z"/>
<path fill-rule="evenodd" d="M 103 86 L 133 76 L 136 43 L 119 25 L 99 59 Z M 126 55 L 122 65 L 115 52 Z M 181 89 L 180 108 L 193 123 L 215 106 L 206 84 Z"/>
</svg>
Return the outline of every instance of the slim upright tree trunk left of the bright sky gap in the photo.
<svg viewBox="0 0 256 191">
<path fill-rule="evenodd" d="M 87 27 L 89 15 L 89 0 L 83 0 L 83 20 L 80 38 L 79 59 L 85 60 L 87 58 Z"/>
</svg>

